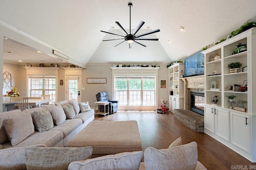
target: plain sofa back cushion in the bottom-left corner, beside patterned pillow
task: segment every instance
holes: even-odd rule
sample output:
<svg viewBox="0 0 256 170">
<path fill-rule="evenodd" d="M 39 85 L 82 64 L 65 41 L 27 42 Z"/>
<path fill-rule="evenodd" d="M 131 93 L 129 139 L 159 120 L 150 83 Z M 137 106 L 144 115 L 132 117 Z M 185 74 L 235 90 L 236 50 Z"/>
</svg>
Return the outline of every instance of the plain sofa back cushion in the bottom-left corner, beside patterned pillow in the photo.
<svg viewBox="0 0 256 170">
<path fill-rule="evenodd" d="M 25 149 L 27 147 L 0 150 L 0 170 L 26 170 Z M 46 147 L 46 146 L 33 145 L 29 147 Z"/>
</svg>

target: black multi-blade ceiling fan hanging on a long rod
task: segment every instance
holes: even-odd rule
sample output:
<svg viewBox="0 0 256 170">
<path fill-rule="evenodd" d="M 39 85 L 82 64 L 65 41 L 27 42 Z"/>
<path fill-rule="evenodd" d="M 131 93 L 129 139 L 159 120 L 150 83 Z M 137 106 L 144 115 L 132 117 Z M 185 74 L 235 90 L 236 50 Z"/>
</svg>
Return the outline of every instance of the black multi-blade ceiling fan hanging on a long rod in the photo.
<svg viewBox="0 0 256 170">
<path fill-rule="evenodd" d="M 117 22 L 117 21 L 116 21 L 116 24 L 122 29 L 122 31 L 124 32 L 125 36 L 124 35 L 118 35 L 118 34 L 115 34 L 115 33 L 106 32 L 106 31 L 101 31 L 101 32 L 109 33 L 109 34 L 113 34 L 113 35 L 118 35 L 118 36 L 123 37 L 123 38 L 120 38 L 120 39 L 124 39 L 124 41 L 122 41 L 121 43 L 115 45 L 114 47 L 124 43 L 125 41 L 127 41 L 129 43 L 129 49 L 132 48 L 132 43 L 133 42 L 138 43 L 138 44 L 146 47 L 146 45 L 144 43 L 142 43 L 142 42 L 140 42 L 138 40 L 158 41 L 158 38 L 140 38 L 140 37 L 142 37 L 144 35 L 149 35 L 149 34 L 152 34 L 152 33 L 159 32 L 160 29 L 156 29 L 154 31 L 149 31 L 149 32 L 146 32 L 146 33 L 142 33 L 142 34 L 136 35 L 136 33 L 140 30 L 142 25 L 145 23 L 144 21 L 140 21 L 139 25 L 131 33 L 131 7 L 132 7 L 132 3 L 129 2 L 128 6 L 130 7 L 130 33 L 129 34 L 125 31 L 125 29 L 122 27 L 122 25 L 119 22 Z M 103 41 L 112 41 L 112 40 L 117 40 L 117 39 L 107 39 L 107 40 L 103 40 Z"/>
</svg>

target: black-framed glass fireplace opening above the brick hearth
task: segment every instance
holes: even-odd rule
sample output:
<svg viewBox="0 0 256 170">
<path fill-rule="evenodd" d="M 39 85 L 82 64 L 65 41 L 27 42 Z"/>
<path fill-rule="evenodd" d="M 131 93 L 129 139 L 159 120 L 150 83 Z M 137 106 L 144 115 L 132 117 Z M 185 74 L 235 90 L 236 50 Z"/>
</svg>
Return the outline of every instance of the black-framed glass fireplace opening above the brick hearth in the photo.
<svg viewBox="0 0 256 170">
<path fill-rule="evenodd" d="M 190 110 L 204 115 L 204 93 L 190 92 Z"/>
</svg>

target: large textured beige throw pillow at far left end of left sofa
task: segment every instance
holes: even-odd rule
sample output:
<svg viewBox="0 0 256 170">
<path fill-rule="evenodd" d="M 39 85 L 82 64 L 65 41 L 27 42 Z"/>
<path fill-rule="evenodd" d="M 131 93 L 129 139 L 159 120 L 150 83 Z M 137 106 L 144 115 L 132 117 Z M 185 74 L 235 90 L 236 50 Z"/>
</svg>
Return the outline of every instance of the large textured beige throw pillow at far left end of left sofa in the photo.
<svg viewBox="0 0 256 170">
<path fill-rule="evenodd" d="M 34 133 L 34 124 L 30 113 L 23 112 L 4 117 L 3 124 L 12 146 L 18 145 Z"/>
</svg>

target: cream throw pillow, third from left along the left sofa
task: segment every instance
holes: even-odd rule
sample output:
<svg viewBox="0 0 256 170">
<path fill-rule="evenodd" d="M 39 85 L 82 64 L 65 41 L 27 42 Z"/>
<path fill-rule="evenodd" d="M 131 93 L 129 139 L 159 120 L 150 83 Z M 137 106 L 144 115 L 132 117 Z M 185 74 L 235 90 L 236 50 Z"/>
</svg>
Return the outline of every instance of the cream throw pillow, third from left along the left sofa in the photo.
<svg viewBox="0 0 256 170">
<path fill-rule="evenodd" d="M 52 107 L 49 111 L 55 125 L 61 125 L 66 120 L 66 114 L 61 106 Z"/>
</svg>

